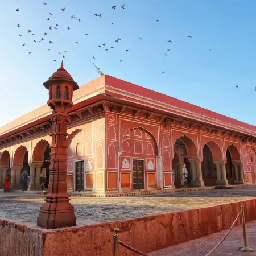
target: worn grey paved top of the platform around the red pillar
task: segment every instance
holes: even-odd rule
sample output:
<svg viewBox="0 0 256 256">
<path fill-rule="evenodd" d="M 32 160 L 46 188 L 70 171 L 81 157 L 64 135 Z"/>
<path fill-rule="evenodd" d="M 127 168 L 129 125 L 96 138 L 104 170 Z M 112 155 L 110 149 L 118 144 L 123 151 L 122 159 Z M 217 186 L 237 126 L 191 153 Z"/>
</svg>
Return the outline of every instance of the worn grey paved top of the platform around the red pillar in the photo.
<svg viewBox="0 0 256 256">
<path fill-rule="evenodd" d="M 72 196 L 71 204 L 75 207 L 77 224 L 87 225 L 205 208 L 254 198 L 256 198 L 256 185 L 233 189 L 205 189 L 141 196 Z M 43 203 L 43 193 L 3 193 L 0 191 L 0 218 L 22 222 L 23 224 L 24 222 L 30 222 L 30 224 L 36 225 L 36 219 Z"/>
</svg>

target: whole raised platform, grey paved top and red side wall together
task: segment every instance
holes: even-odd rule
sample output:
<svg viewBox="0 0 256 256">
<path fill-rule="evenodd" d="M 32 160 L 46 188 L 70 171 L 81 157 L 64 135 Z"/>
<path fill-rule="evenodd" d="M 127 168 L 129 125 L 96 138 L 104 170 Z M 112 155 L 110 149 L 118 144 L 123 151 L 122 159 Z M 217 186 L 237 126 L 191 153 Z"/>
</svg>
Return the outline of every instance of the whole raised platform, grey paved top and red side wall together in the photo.
<svg viewBox="0 0 256 256">
<path fill-rule="evenodd" d="M 256 219 L 255 186 L 133 197 L 72 197 L 77 226 L 55 230 L 36 226 L 43 197 L 3 194 L 0 243 L 9 245 L 0 247 L 4 256 L 112 255 L 115 227 L 120 229 L 122 242 L 150 253 L 228 229 L 241 205 L 247 222 Z M 119 255 L 135 254 L 119 246 Z"/>
</svg>

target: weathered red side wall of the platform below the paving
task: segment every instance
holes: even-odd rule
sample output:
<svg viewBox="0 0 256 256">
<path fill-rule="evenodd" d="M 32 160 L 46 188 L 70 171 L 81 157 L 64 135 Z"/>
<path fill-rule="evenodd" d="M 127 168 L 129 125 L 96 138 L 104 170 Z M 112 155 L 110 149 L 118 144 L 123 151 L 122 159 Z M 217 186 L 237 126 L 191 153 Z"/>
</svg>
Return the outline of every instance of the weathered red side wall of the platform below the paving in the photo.
<svg viewBox="0 0 256 256">
<path fill-rule="evenodd" d="M 120 229 L 119 240 L 144 253 L 149 253 L 228 229 L 236 219 L 241 205 L 245 206 L 246 222 L 255 220 L 256 199 L 56 230 L 27 228 L 11 221 L 0 220 L 0 244 L 4 245 L 0 246 L 0 255 L 112 255 L 112 236 L 115 227 Z M 241 223 L 240 218 L 238 225 Z M 137 254 L 118 245 L 118 255 Z"/>
</svg>

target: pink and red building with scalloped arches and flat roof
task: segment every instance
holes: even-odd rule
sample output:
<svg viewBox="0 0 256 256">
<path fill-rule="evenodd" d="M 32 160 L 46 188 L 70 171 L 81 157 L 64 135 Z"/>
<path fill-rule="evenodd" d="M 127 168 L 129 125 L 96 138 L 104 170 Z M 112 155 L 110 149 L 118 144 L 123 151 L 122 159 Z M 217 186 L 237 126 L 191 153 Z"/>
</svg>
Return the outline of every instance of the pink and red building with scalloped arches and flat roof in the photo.
<svg viewBox="0 0 256 256">
<path fill-rule="evenodd" d="M 69 192 L 104 196 L 255 183 L 255 126 L 108 75 L 75 90 L 73 104 Z M 28 189 L 41 190 L 51 114 L 46 104 L 0 127 L 0 188 L 11 174 L 12 188 L 21 189 L 27 170 Z"/>
</svg>

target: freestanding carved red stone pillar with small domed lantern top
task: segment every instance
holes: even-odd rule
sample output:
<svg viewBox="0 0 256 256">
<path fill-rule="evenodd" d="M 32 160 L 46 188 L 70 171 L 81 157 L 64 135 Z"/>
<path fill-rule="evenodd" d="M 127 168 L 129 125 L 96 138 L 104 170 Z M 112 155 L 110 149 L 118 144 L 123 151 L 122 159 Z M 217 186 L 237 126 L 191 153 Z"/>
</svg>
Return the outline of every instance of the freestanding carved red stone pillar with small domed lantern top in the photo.
<svg viewBox="0 0 256 256">
<path fill-rule="evenodd" d="M 71 75 L 61 67 L 43 84 L 49 89 L 48 106 L 52 109 L 51 164 L 49 166 L 48 193 L 40 208 L 38 226 L 46 229 L 76 225 L 74 207 L 67 193 L 67 122 L 72 108 L 73 90 L 79 86 Z"/>
</svg>

